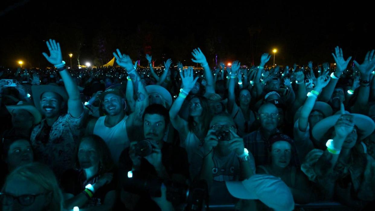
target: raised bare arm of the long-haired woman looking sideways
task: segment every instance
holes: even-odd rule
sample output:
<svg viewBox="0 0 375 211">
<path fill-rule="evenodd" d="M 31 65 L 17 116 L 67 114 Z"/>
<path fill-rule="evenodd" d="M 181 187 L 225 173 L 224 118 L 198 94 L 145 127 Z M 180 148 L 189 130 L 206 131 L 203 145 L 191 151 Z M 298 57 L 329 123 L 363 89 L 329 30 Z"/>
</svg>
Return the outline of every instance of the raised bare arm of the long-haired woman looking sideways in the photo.
<svg viewBox="0 0 375 211">
<path fill-rule="evenodd" d="M 182 103 L 184 102 L 187 94 L 194 87 L 198 77 L 193 78 L 193 68 L 189 67 L 187 70 L 180 72 L 183 90 L 178 95 L 177 99 L 173 102 L 171 109 L 169 110 L 169 117 L 171 119 L 172 126 L 177 129 L 179 133 L 187 134 L 187 122 L 178 116 L 178 112 L 181 109 Z"/>
</svg>

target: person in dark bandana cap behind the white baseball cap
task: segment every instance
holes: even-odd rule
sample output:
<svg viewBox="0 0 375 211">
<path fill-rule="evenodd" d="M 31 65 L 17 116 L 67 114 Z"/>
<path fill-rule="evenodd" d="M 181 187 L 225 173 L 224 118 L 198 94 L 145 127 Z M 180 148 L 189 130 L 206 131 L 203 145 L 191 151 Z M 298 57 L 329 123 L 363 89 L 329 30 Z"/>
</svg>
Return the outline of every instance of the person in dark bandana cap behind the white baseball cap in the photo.
<svg viewBox="0 0 375 211">
<path fill-rule="evenodd" d="M 281 178 L 291 189 L 297 204 L 314 201 L 315 195 L 305 174 L 299 169 L 293 140 L 284 134 L 269 139 L 269 164 L 257 166 L 257 174 L 270 174 Z"/>
</svg>

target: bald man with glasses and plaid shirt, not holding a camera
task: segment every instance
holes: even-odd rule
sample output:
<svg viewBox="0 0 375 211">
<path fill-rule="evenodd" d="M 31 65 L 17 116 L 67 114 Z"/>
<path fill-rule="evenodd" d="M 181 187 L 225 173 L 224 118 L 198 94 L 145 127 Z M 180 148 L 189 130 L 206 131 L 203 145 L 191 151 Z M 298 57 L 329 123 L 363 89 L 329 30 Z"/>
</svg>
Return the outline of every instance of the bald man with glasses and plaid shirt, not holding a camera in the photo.
<svg viewBox="0 0 375 211">
<path fill-rule="evenodd" d="M 243 137 L 245 148 L 254 156 L 257 165 L 266 165 L 268 160 L 267 142 L 270 136 L 278 132 L 278 108 L 266 103 L 259 108 L 257 120 L 260 129 Z"/>
</svg>

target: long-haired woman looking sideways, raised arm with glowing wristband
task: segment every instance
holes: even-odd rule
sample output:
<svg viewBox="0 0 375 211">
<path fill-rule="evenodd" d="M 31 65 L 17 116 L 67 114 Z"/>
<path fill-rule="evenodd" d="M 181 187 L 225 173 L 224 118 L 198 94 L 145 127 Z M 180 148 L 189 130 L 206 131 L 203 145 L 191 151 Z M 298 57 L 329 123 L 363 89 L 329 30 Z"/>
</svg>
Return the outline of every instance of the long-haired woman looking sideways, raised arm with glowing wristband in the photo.
<svg viewBox="0 0 375 211">
<path fill-rule="evenodd" d="M 169 110 L 169 117 L 171 118 L 172 126 L 177 129 L 180 135 L 180 145 L 186 149 L 190 160 L 194 150 L 199 148 L 202 144 L 200 140 L 207 134 L 211 116 L 207 100 L 200 96 L 195 96 L 190 99 L 189 118 L 187 121 L 178 116 L 182 103 L 190 90 L 194 87 L 195 82 L 198 80 L 198 78 L 193 78 L 192 67 L 184 70 L 184 74 L 180 72 L 180 76 L 183 90 L 172 104 L 172 107 Z"/>
</svg>

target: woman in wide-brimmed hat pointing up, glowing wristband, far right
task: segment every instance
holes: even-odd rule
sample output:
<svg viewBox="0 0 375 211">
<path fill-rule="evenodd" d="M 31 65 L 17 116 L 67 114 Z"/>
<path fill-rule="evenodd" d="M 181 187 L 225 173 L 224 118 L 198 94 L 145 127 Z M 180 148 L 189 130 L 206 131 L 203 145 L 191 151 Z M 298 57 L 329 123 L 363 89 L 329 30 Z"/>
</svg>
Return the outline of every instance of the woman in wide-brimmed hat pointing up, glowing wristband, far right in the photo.
<svg viewBox="0 0 375 211">
<path fill-rule="evenodd" d="M 375 124 L 364 115 L 344 114 L 343 106 L 341 113 L 315 125 L 314 138 L 320 140 L 321 134 L 330 133 L 331 139 L 325 151 L 312 150 L 301 169 L 318 184 L 324 199 L 361 208 L 375 199 L 375 161 L 355 146 L 374 131 Z"/>
</svg>

